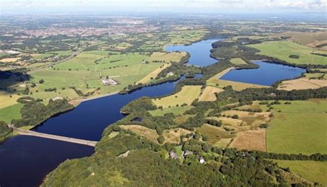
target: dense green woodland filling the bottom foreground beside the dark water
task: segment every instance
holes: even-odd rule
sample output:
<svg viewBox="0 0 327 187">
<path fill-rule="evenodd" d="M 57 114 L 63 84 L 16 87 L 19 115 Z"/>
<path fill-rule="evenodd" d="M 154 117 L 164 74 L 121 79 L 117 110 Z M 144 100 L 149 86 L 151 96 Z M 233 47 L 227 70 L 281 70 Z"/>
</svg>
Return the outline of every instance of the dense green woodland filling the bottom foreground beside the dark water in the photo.
<svg viewBox="0 0 327 187">
<path fill-rule="evenodd" d="M 271 158 L 266 153 L 221 149 L 190 139 L 183 143 L 183 149 L 194 154 L 188 155 L 181 163 L 179 159 L 165 158 L 165 154 L 174 149 L 169 144 L 158 146 L 118 126 L 110 126 L 109 129 L 120 131 L 120 135 L 112 139 L 103 136 L 103 140 L 97 144 L 95 155 L 64 162 L 47 176 L 43 186 L 289 185 L 285 176 L 290 175 L 290 170 L 279 168 L 277 164 L 266 160 Z M 126 151 L 130 151 L 127 157 L 117 157 Z M 206 164 L 198 162 L 201 155 L 205 157 Z M 289 157 L 310 159 L 301 155 Z M 325 161 L 326 155 L 317 160 Z M 74 177 L 71 177 L 72 173 Z M 309 184 L 300 181 L 292 185 Z"/>
</svg>

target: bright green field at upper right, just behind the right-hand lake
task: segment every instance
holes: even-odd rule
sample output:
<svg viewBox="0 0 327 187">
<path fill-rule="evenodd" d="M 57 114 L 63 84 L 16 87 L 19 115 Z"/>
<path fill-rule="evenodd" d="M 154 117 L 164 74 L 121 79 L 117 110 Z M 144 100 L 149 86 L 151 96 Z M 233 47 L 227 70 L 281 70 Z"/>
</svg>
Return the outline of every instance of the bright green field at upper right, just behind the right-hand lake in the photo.
<svg viewBox="0 0 327 187">
<path fill-rule="evenodd" d="M 288 63 L 295 64 L 321 64 L 327 65 L 327 58 L 324 56 L 311 54 L 312 52 L 326 54 L 327 52 L 315 50 L 312 47 L 299 45 L 292 41 L 269 41 L 255 45 L 248 45 L 260 50 L 259 54 L 266 56 L 273 56 Z M 295 54 L 299 58 L 290 58 L 289 56 Z"/>
</svg>

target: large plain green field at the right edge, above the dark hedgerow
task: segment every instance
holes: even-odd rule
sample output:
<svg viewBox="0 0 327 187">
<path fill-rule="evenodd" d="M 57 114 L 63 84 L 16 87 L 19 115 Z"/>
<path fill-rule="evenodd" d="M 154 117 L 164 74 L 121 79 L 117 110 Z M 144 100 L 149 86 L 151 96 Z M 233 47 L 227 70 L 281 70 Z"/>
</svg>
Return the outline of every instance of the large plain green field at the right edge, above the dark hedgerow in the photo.
<svg viewBox="0 0 327 187">
<path fill-rule="evenodd" d="M 267 129 L 267 149 L 273 153 L 327 153 L 327 100 L 292 101 L 274 105 Z"/>
</svg>

